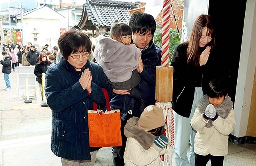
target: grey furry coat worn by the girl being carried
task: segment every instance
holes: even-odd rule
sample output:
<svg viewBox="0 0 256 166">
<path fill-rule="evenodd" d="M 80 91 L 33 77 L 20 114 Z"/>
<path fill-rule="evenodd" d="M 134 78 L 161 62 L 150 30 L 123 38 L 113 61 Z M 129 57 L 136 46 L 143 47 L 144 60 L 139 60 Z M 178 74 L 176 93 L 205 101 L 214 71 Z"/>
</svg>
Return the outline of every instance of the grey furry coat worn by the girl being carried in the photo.
<svg viewBox="0 0 256 166">
<path fill-rule="evenodd" d="M 109 37 L 101 38 L 94 49 L 94 58 L 111 82 L 124 82 L 131 78 L 138 67 L 140 50 L 134 45 L 125 45 Z"/>
</svg>

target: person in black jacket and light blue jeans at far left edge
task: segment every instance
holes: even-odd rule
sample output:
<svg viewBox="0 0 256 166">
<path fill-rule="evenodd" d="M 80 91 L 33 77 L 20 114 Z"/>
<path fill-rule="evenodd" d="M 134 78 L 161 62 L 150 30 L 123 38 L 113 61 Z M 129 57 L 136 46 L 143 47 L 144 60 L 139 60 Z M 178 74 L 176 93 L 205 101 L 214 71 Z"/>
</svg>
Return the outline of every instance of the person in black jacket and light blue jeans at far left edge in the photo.
<svg viewBox="0 0 256 166">
<path fill-rule="evenodd" d="M 4 58 L 4 60 L 2 60 Z M 2 55 L 0 55 L 0 63 L 3 65 L 2 72 L 4 73 L 4 81 L 6 84 L 6 88 L 4 90 L 8 91 L 11 90 L 11 83 L 9 74 L 12 72 L 12 63 L 11 63 L 12 57 L 8 56 L 8 53 L 6 51 L 2 52 Z"/>
</svg>

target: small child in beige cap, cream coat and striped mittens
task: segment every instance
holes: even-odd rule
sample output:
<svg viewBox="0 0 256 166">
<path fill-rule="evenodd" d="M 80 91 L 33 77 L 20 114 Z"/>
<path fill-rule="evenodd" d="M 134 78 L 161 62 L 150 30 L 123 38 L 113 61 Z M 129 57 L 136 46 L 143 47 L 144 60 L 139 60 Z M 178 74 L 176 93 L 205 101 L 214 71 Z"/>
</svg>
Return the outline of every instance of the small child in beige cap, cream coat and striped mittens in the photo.
<svg viewBox="0 0 256 166">
<path fill-rule="evenodd" d="M 133 117 L 124 126 L 127 137 L 124 151 L 126 166 L 160 166 L 168 138 L 163 134 L 165 118 L 162 108 L 148 106 L 140 118 Z"/>
</svg>

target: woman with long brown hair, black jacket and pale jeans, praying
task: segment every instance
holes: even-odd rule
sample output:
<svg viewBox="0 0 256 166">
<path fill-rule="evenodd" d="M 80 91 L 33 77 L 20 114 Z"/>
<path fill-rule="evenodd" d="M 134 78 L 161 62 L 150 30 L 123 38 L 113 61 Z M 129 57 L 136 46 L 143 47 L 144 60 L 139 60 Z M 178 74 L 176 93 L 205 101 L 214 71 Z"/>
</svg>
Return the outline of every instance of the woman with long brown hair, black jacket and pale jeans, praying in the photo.
<svg viewBox="0 0 256 166">
<path fill-rule="evenodd" d="M 172 56 L 174 110 L 174 162 L 176 166 L 194 166 L 194 137 L 196 131 L 190 120 L 198 101 L 203 97 L 202 79 L 204 65 L 214 48 L 215 33 L 210 15 L 202 14 L 196 19 L 186 42 L 179 44 Z M 190 156 L 187 157 L 190 143 Z"/>
</svg>

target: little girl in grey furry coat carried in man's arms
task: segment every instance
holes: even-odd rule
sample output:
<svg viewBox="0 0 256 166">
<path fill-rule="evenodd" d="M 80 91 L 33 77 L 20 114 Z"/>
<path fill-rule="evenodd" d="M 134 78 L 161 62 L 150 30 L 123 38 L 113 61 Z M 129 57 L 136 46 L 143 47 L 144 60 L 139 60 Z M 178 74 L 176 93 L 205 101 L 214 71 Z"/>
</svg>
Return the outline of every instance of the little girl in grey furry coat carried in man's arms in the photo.
<svg viewBox="0 0 256 166">
<path fill-rule="evenodd" d="M 140 50 L 132 42 L 132 30 L 124 23 L 114 23 L 110 37 L 100 38 L 94 49 L 94 58 L 102 66 L 109 83 L 116 90 L 130 90 L 128 96 L 136 99 L 140 114 L 145 108 L 145 98 L 138 87 L 138 58 Z"/>
</svg>

